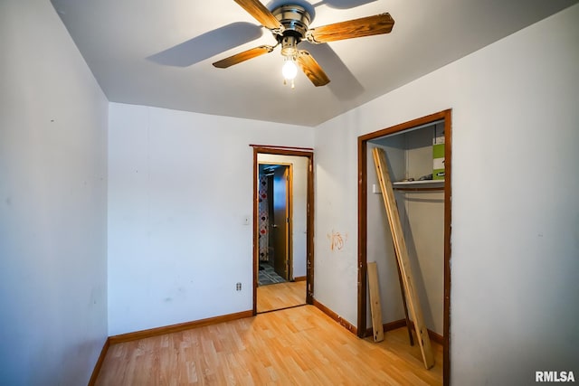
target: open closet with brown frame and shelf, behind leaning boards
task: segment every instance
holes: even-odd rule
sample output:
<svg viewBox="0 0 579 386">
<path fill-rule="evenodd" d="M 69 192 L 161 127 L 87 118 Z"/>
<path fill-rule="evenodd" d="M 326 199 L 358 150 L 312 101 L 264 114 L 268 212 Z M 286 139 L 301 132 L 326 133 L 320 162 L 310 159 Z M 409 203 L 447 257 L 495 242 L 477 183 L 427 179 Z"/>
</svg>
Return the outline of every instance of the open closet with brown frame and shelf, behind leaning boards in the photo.
<svg viewBox="0 0 579 386">
<path fill-rule="evenodd" d="M 431 341 L 442 345 L 442 363 L 435 366 L 442 366 L 442 381 L 448 385 L 451 109 L 358 137 L 357 331 L 361 338 L 372 334 L 368 261 L 376 261 L 378 267 L 384 334 L 406 325 L 392 231 L 372 156 L 374 147 L 384 150 L 425 325 Z M 415 341 L 416 335 L 413 337 Z"/>
</svg>

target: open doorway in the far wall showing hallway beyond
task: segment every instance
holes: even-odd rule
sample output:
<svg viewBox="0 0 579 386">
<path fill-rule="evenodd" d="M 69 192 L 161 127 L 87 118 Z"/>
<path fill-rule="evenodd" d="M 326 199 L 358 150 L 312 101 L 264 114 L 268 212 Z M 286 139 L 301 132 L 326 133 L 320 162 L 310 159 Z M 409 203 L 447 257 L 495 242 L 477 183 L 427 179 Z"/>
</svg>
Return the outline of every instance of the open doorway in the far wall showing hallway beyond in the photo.
<svg viewBox="0 0 579 386">
<path fill-rule="evenodd" d="M 253 147 L 253 312 L 311 304 L 313 153 Z"/>
</svg>

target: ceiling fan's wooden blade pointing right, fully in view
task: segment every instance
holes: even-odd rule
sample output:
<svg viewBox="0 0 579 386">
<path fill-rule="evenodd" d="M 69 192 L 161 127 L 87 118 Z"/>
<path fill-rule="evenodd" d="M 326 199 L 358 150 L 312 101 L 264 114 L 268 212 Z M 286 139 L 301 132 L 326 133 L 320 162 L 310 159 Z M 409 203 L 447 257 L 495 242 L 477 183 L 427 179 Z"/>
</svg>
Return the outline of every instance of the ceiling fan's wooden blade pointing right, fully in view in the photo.
<svg viewBox="0 0 579 386">
<path fill-rule="evenodd" d="M 376 14 L 375 16 L 312 28 L 308 31 L 306 38 L 308 42 L 335 42 L 390 33 L 393 26 L 394 19 L 390 14 Z"/>
</svg>

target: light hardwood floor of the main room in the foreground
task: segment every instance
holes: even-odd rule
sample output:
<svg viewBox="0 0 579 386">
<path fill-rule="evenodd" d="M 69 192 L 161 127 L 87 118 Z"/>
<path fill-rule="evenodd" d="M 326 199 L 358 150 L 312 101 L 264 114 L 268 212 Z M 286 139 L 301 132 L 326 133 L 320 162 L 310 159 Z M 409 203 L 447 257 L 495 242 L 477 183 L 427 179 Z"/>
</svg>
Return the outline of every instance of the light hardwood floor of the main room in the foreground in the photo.
<svg viewBox="0 0 579 386">
<path fill-rule="evenodd" d="M 404 328 L 359 339 L 315 306 L 114 344 L 97 385 L 438 385 Z"/>
</svg>

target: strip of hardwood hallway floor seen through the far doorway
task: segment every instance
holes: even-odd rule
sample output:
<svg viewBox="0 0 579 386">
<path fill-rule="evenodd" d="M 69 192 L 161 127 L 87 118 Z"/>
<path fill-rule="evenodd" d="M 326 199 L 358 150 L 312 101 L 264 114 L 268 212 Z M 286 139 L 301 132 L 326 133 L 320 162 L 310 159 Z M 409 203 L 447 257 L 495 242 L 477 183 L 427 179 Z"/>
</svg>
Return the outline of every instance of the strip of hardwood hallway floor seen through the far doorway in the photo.
<svg viewBox="0 0 579 386">
<path fill-rule="evenodd" d="M 257 287 L 258 313 L 305 304 L 305 280 Z"/>
</svg>

